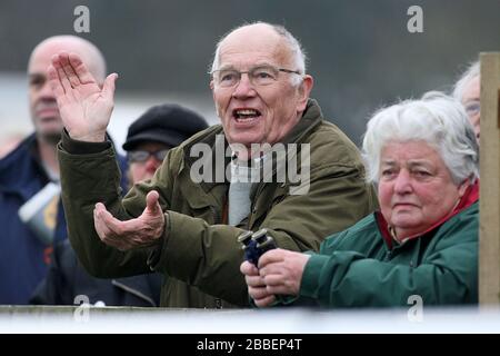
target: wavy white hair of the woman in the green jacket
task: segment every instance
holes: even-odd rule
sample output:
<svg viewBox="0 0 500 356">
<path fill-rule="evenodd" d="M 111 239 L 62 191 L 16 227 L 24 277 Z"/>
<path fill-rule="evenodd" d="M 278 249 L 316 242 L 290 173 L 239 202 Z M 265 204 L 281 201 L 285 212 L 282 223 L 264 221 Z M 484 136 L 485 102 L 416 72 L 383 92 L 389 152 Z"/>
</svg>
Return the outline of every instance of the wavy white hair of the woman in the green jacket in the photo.
<svg viewBox="0 0 500 356">
<path fill-rule="evenodd" d="M 378 182 L 381 152 L 389 142 L 424 141 L 436 149 L 456 185 L 479 178 L 479 147 L 462 105 L 442 92 L 404 100 L 374 113 L 363 138 L 368 179 Z"/>
</svg>

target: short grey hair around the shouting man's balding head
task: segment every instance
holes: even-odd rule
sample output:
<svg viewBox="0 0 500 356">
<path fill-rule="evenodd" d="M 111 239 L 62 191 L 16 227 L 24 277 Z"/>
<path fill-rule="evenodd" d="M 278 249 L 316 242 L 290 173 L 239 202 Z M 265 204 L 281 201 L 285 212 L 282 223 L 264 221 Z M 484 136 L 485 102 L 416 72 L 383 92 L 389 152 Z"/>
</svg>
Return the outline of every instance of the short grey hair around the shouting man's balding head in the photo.
<svg viewBox="0 0 500 356">
<path fill-rule="evenodd" d="M 252 22 L 252 23 L 244 23 L 242 26 L 239 26 L 232 30 L 230 30 L 229 32 L 227 32 L 224 36 L 222 36 L 222 38 L 219 40 L 219 42 L 217 42 L 217 47 L 216 47 L 216 53 L 213 55 L 213 61 L 210 68 L 210 72 L 213 72 L 214 70 L 217 70 L 219 68 L 220 65 L 220 46 L 222 44 L 223 40 L 231 34 L 232 32 L 243 28 L 243 27 L 248 27 L 248 26 L 252 26 L 252 24 L 258 24 L 258 23 L 262 23 L 262 24 L 268 24 L 270 26 L 279 36 L 281 36 L 283 38 L 283 40 L 286 41 L 291 55 L 292 55 L 292 62 L 294 68 L 290 68 L 291 70 L 297 70 L 299 71 L 301 75 L 306 75 L 306 62 L 307 62 L 307 57 L 306 57 L 306 51 L 303 50 L 302 46 L 300 44 L 299 40 L 293 37 L 293 34 L 290 33 L 290 31 L 288 31 L 283 26 L 280 24 L 272 24 L 272 23 L 267 23 L 267 22 L 261 22 L 261 21 L 257 21 L 257 22 Z M 299 83 L 302 82 L 302 76 L 290 76 L 290 79 L 292 81 L 293 86 L 298 86 Z"/>
</svg>

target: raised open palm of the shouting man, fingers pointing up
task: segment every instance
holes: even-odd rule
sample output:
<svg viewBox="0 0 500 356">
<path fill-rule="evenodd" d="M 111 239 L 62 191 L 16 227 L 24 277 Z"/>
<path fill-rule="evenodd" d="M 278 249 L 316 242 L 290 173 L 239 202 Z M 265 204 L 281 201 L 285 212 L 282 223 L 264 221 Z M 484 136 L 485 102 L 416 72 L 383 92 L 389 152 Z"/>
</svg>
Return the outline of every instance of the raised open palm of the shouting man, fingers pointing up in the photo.
<svg viewBox="0 0 500 356">
<path fill-rule="evenodd" d="M 70 137 L 89 142 L 104 141 L 118 75 L 108 76 L 101 88 L 80 57 L 67 52 L 52 56 L 47 72 Z"/>
</svg>

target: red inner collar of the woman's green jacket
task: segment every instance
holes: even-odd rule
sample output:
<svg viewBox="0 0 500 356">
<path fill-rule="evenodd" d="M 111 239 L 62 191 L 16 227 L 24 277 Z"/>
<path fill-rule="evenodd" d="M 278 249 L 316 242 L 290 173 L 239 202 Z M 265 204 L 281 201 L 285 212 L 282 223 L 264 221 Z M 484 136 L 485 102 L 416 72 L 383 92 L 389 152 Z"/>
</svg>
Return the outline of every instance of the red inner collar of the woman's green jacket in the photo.
<svg viewBox="0 0 500 356">
<path fill-rule="evenodd" d="M 462 198 L 460 199 L 459 204 L 454 207 L 453 211 L 451 211 L 450 215 L 443 217 L 439 221 L 437 221 L 434 225 L 429 227 L 427 230 L 416 234 L 413 236 L 410 236 L 404 239 L 404 241 L 419 238 L 424 236 L 428 233 L 431 233 L 433 230 L 437 230 L 441 225 L 443 225 L 446 221 L 451 219 L 457 214 L 460 214 L 461 211 L 466 210 L 468 207 L 470 207 L 472 204 L 479 200 L 479 180 L 477 180 L 473 185 L 470 185 L 466 192 L 463 194 Z M 387 220 L 383 218 L 382 212 L 376 211 L 374 212 L 376 221 L 379 227 L 379 230 L 386 241 L 386 244 L 389 246 L 390 249 L 392 249 L 393 246 L 393 237 L 390 233 L 390 227 Z"/>
</svg>

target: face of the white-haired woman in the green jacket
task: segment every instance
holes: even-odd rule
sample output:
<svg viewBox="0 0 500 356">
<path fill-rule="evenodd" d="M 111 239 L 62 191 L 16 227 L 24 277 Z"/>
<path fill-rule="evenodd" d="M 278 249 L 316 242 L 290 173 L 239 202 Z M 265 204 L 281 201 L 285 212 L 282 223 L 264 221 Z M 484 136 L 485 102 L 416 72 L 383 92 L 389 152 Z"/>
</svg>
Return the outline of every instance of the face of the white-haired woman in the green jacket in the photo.
<svg viewBox="0 0 500 356">
<path fill-rule="evenodd" d="M 389 141 L 382 148 L 379 200 L 399 239 L 447 217 L 468 184 L 457 186 L 439 154 L 424 141 Z"/>
</svg>

